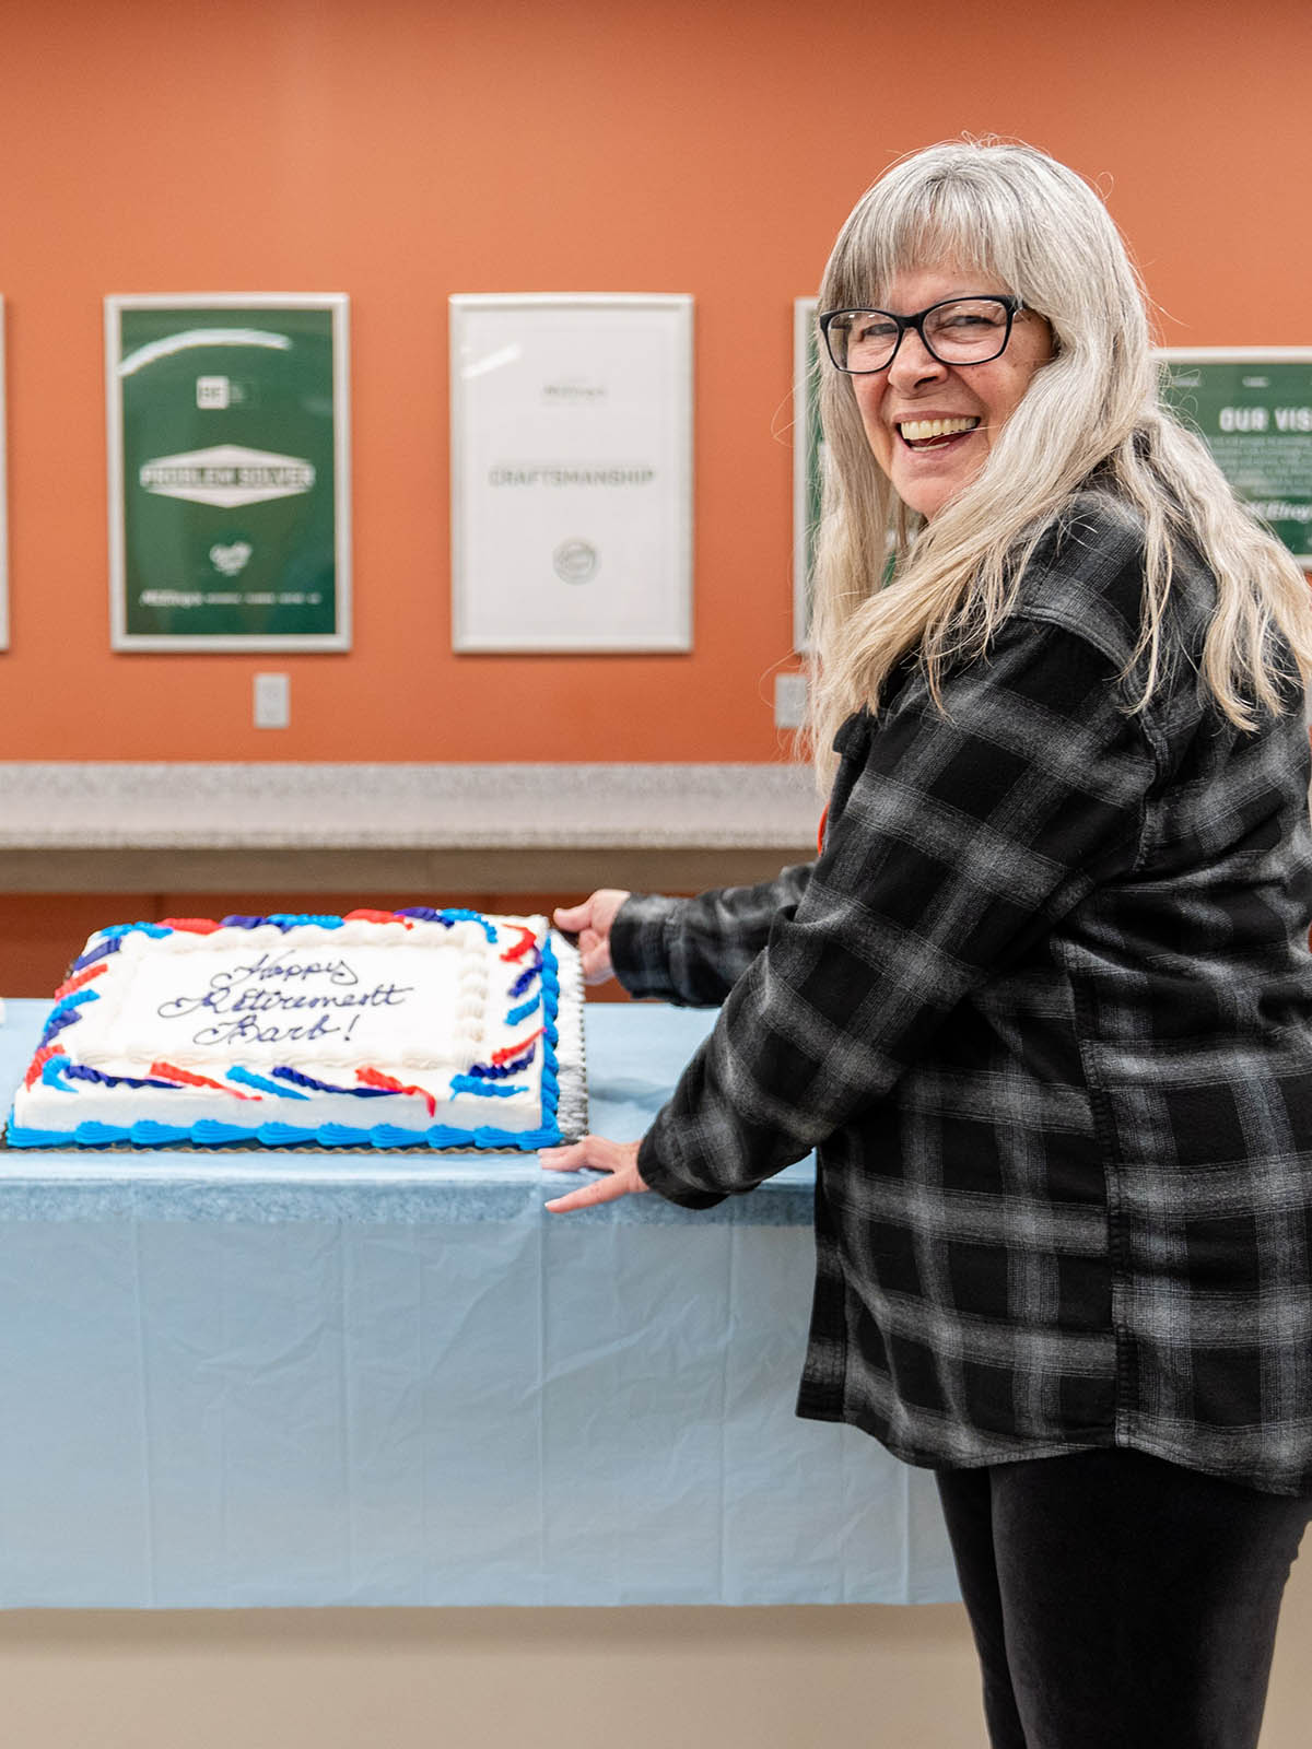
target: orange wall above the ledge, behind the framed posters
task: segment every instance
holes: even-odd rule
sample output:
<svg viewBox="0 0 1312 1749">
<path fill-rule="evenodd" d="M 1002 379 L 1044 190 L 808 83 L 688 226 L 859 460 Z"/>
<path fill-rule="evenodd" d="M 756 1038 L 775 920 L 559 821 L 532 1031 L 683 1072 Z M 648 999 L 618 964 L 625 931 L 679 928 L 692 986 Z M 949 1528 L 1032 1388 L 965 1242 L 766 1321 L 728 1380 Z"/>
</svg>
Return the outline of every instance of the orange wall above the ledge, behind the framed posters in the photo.
<svg viewBox="0 0 1312 1749">
<path fill-rule="evenodd" d="M 1170 343 L 1307 343 L 1307 0 L 3 0 L 0 759 L 773 759 L 791 299 L 896 154 L 1111 189 Z M 994 38 L 992 42 L 988 38 Z M 352 296 L 355 651 L 114 656 L 105 292 Z M 696 649 L 450 652 L 446 297 L 696 297 Z M 250 675 L 292 675 L 292 728 Z M 506 701 L 513 700 L 514 708 Z"/>
</svg>

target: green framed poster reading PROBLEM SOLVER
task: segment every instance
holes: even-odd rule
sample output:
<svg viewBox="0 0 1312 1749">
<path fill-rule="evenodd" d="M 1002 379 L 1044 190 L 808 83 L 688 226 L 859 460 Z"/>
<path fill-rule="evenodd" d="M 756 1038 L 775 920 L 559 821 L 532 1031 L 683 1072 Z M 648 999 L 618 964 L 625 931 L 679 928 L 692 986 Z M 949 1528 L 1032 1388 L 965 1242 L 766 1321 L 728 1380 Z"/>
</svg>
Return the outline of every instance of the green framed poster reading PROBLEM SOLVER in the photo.
<svg viewBox="0 0 1312 1749">
<path fill-rule="evenodd" d="M 105 299 L 114 649 L 350 649 L 346 311 Z"/>
</svg>

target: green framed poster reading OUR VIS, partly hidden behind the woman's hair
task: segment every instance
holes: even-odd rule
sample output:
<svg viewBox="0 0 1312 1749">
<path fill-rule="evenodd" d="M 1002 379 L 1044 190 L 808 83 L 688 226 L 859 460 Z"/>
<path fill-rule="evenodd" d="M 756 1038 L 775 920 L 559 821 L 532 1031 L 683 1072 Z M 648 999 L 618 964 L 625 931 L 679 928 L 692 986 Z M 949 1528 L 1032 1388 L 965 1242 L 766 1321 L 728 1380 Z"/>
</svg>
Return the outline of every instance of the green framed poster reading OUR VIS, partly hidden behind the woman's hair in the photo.
<svg viewBox="0 0 1312 1749">
<path fill-rule="evenodd" d="M 1163 346 L 1163 395 L 1312 570 L 1312 346 Z"/>
</svg>

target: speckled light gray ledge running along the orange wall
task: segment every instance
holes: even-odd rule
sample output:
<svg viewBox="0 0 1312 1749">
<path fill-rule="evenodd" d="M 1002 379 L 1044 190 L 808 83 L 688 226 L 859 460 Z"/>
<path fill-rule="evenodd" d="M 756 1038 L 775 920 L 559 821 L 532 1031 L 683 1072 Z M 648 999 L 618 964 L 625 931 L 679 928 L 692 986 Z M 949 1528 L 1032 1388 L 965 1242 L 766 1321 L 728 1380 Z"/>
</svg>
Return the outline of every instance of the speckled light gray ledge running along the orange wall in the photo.
<svg viewBox="0 0 1312 1749">
<path fill-rule="evenodd" d="M 796 861 L 813 854 L 819 813 L 799 764 L 0 763 L 10 854 L 628 848 Z"/>
</svg>

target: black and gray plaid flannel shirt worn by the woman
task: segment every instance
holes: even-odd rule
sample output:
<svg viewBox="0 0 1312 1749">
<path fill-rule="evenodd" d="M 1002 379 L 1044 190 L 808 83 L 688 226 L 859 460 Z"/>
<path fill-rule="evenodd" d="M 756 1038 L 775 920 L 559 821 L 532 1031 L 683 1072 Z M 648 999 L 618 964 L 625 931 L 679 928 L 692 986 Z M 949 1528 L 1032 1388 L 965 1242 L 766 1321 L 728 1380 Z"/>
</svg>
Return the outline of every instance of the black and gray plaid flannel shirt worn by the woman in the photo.
<svg viewBox="0 0 1312 1749">
<path fill-rule="evenodd" d="M 1127 708 L 1142 530 L 1085 491 L 988 656 L 838 735 L 817 862 L 633 897 L 635 995 L 722 1002 L 642 1140 L 708 1207 L 817 1151 L 798 1413 L 969 1467 L 1123 1445 L 1312 1492 L 1312 841 L 1302 710 L 1181 658 Z"/>
</svg>

